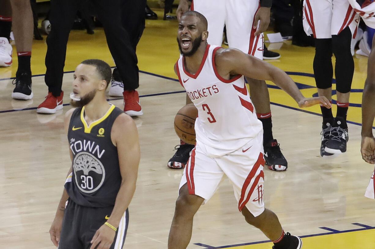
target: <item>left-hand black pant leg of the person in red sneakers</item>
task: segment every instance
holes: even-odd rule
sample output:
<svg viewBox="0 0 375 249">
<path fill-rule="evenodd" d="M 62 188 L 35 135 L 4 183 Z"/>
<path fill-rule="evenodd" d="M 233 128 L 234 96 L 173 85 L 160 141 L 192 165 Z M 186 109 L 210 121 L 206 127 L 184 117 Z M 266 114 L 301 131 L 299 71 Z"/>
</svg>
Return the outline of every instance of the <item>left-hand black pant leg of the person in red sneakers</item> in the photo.
<svg viewBox="0 0 375 249">
<path fill-rule="evenodd" d="M 63 83 L 66 44 L 77 13 L 77 0 L 51 0 L 49 21 L 51 32 L 46 39 L 45 82 L 48 91 L 60 96 Z"/>
</svg>

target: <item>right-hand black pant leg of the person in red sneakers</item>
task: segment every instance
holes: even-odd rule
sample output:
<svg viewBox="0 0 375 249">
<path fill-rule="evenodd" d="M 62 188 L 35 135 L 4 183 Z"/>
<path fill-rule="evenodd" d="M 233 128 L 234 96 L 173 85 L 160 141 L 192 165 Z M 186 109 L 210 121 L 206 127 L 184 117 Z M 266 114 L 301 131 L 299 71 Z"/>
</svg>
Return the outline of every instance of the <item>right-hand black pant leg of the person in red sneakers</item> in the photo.
<svg viewBox="0 0 375 249">
<path fill-rule="evenodd" d="M 122 0 L 93 0 L 93 3 L 103 24 L 108 48 L 124 83 L 124 91 L 135 90 L 139 86 L 138 60 L 129 34 L 121 22 Z"/>
</svg>

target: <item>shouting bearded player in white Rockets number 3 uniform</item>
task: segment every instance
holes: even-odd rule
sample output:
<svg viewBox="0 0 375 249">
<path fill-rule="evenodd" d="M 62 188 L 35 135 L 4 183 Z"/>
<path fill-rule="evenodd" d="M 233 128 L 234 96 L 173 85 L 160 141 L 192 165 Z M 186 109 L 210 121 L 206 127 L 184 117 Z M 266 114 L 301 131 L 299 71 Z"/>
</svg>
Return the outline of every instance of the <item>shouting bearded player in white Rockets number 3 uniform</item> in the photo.
<svg viewBox="0 0 375 249">
<path fill-rule="evenodd" d="M 285 234 L 272 211 L 264 208 L 263 129 L 244 76 L 273 81 L 300 107 L 323 104 L 325 97 L 304 98 L 282 70 L 238 49 L 207 43 L 207 19 L 188 11 L 180 19 L 177 42 L 181 57 L 175 73 L 198 109 L 196 145 L 180 182 L 168 249 L 189 244 L 193 216 L 214 194 L 223 175 L 233 184 L 245 220 L 275 243 L 274 249 L 300 249 L 297 236 Z"/>
</svg>

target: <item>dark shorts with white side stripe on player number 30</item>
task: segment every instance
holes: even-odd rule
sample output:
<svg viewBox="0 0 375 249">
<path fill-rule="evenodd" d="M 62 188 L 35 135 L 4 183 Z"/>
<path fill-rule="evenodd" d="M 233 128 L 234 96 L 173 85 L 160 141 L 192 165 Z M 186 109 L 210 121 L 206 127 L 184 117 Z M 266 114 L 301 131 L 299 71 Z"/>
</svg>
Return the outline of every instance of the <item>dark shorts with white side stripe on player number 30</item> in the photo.
<svg viewBox="0 0 375 249">
<path fill-rule="evenodd" d="M 64 212 L 58 249 L 90 249 L 92 238 L 107 221 L 106 216 L 111 216 L 112 210 L 113 207 L 80 206 L 69 199 Z M 128 224 L 129 211 L 126 210 L 110 249 L 123 248 Z"/>
</svg>

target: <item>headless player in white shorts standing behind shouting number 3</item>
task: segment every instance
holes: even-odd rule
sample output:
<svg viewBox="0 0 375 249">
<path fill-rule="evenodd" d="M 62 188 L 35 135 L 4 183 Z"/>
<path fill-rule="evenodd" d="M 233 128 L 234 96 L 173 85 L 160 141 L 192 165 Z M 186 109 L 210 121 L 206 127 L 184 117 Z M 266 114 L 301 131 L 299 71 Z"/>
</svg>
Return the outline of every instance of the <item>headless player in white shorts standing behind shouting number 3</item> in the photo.
<svg viewBox="0 0 375 249">
<path fill-rule="evenodd" d="M 190 9 L 198 11 L 207 18 L 208 32 L 210 33 L 209 44 L 221 46 L 225 25 L 229 47 L 237 48 L 245 54 L 263 60 L 263 32 L 267 30 L 270 23 L 271 5 L 272 0 L 193 0 Z M 188 1 L 180 0 L 177 18 L 180 18 L 188 10 Z M 259 26 L 258 21 L 260 21 Z M 288 162 L 272 134 L 270 96 L 266 82 L 245 78 L 250 86 L 250 95 L 257 109 L 258 119 L 263 124 L 263 147 L 266 163 L 271 170 L 287 170 Z M 186 104 L 188 103 L 189 101 Z M 181 145 L 181 147 L 186 147 L 186 145 Z M 181 150 L 180 154 L 183 154 L 181 147 L 176 154 L 179 153 L 179 150 Z M 171 158 L 168 166 L 183 167 L 186 164 L 186 161 L 183 165 L 173 163 L 177 158 Z"/>
</svg>

